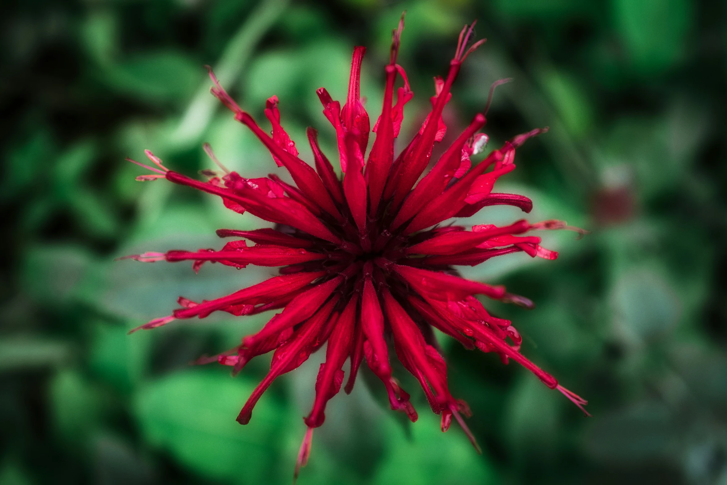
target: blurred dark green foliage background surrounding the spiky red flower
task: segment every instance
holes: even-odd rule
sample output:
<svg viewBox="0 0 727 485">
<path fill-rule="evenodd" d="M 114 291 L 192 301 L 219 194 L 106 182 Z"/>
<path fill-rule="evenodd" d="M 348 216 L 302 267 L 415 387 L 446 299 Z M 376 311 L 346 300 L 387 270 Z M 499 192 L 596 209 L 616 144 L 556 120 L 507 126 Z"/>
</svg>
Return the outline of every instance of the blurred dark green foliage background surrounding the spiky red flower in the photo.
<svg viewBox="0 0 727 485">
<path fill-rule="evenodd" d="M 537 302 L 488 305 L 594 417 L 516 364 L 442 340 L 483 455 L 455 426 L 442 434 L 410 383 L 420 419 L 406 425 L 364 372 L 329 404 L 300 484 L 727 484 L 724 1 L 7 0 L 0 485 L 289 483 L 322 356 L 276 382 L 242 427 L 234 418 L 266 358 L 235 379 L 188 362 L 262 320 L 212 316 L 126 335 L 180 294 L 218 297 L 271 270 L 207 265 L 195 275 L 113 261 L 219 248 L 214 229 L 260 223 L 212 196 L 137 183 L 143 171 L 124 157 L 150 148 L 193 175 L 211 166 L 209 142 L 242 175 L 275 170 L 209 95 L 210 64 L 261 121 L 278 95 L 305 159 L 309 124 L 336 159 L 315 89 L 342 100 L 350 52 L 364 44 L 362 91 L 376 119 L 403 9 L 399 60 L 415 92 L 403 140 L 475 17 L 489 40 L 454 88 L 449 137 L 502 77 L 514 81 L 495 95 L 491 146 L 550 126 L 518 151 L 498 190 L 531 197 L 532 222 L 592 233 L 546 234 L 556 261 L 514 254 L 465 274 Z M 500 207 L 476 220 L 519 217 Z"/>
</svg>

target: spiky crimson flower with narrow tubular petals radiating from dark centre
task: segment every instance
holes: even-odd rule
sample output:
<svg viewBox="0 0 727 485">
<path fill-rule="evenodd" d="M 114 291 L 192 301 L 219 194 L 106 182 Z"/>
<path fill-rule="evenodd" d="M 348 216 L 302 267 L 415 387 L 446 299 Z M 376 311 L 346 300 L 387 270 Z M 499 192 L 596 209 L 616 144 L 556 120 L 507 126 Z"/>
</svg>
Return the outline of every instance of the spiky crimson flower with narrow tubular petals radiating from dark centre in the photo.
<svg viewBox="0 0 727 485">
<path fill-rule="evenodd" d="M 308 141 L 316 170 L 298 158 L 295 143 L 281 127 L 276 96 L 268 100 L 265 109 L 273 126 L 270 136 L 222 89 L 212 71 L 212 94 L 260 138 L 278 167 L 288 170 L 296 186 L 276 175 L 246 179 L 229 172 L 214 158 L 209 145 L 205 146 L 207 153 L 225 173 L 207 182 L 172 172 L 153 153 L 146 152 L 158 169 L 144 166 L 155 173 L 137 177 L 139 180 L 165 177 L 220 196 L 225 206 L 236 212 L 247 211 L 276 223 L 276 229 L 220 229 L 220 237 L 244 238 L 228 242 L 220 251 L 155 252 L 131 257 L 147 262 L 191 260 L 195 270 L 206 261 L 236 268 L 249 264 L 281 266 L 281 276 L 226 297 L 199 303 L 180 297 L 182 308 L 139 329 L 152 329 L 175 319 L 204 318 L 217 310 L 242 316 L 282 309 L 260 332 L 244 337 L 237 348 L 209 359 L 233 366 L 234 372 L 239 372 L 254 356 L 274 351 L 270 372 L 237 417 L 241 424 L 249 422 L 255 403 L 276 377 L 300 366 L 310 353 L 328 342 L 326 362 L 318 372 L 313 409 L 305 417 L 308 433 L 296 474 L 308 459 L 313 428 L 325 420 L 326 403 L 341 388 L 342 367 L 347 358 L 347 393 L 353 388 L 358 366 L 365 358 L 385 386 L 391 408 L 405 412 L 411 421 L 417 420 L 409 394 L 391 374 L 390 344 L 403 366 L 419 380 L 433 412 L 441 414 L 442 430 L 449 428 L 454 417 L 477 448 L 460 416 L 469 415 L 469 408 L 464 401 L 451 396 L 447 388 L 446 363 L 431 326 L 468 349 L 497 353 L 505 364 L 512 358 L 581 409 L 586 404 L 525 358 L 519 352 L 518 331 L 510 321 L 491 316 L 475 295 L 526 307 L 532 306 L 530 300 L 507 293 L 503 286 L 461 278 L 451 268 L 474 266 L 491 257 L 519 251 L 554 260 L 558 253 L 539 246 L 539 237 L 521 235 L 531 230 L 577 228 L 569 228 L 560 221 L 531 224 L 526 220 L 502 228 L 475 225 L 471 231 L 455 225 L 438 227 L 451 217 L 469 217 L 483 207 L 497 204 L 530 212 L 532 202 L 527 197 L 493 193 L 492 188 L 498 177 L 515 169 L 515 149 L 546 129 L 514 137 L 471 167 L 470 155 L 481 151 L 487 141 L 486 135 L 477 133 L 486 122 L 485 115 L 479 113 L 433 169 L 419 180 L 430 163 L 434 143 L 446 132 L 442 110 L 451 97 L 449 91 L 459 68 L 467 55 L 484 42 L 478 41 L 467 49 L 473 26 L 465 25 L 460 33 L 446 79 L 435 79 L 432 111 L 396 159 L 394 140 L 401 128 L 403 106 L 412 97 L 406 73 L 396 63 L 403 20 L 393 33 L 390 63 L 385 67 L 382 114 L 373 127 L 377 136 L 367 160 L 364 153 L 369 142 L 369 115 L 358 92 L 366 49 L 356 47 L 353 51 L 348 98 L 343 108 L 326 89 L 318 89 L 323 112 L 336 131 L 341 169 L 345 173 L 342 180 L 318 147 L 315 129 L 308 129 Z M 397 76 L 401 76 L 403 86 L 395 92 Z M 489 167 L 492 169 L 486 172 Z M 248 246 L 246 240 L 254 245 Z M 512 344 L 506 342 L 508 338 Z"/>
</svg>

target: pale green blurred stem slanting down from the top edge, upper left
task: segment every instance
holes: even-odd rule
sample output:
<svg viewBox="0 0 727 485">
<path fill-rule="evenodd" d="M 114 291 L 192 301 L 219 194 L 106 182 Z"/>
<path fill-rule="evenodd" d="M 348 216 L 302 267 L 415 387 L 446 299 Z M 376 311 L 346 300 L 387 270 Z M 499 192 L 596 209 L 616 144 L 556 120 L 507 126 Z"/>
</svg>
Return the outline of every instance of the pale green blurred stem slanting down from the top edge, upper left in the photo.
<svg viewBox="0 0 727 485">
<path fill-rule="evenodd" d="M 234 84 L 248 62 L 252 51 L 262 36 L 278 20 L 289 0 L 260 0 L 257 7 L 247 17 L 246 22 L 230 39 L 220 60 L 214 65 L 214 73 L 223 86 Z M 192 103 L 182 116 L 177 129 L 172 132 L 170 145 L 174 148 L 188 148 L 198 143 L 199 137 L 212 119 L 219 105 L 217 99 L 209 94 L 209 79 L 205 79 L 197 90 Z"/>
</svg>

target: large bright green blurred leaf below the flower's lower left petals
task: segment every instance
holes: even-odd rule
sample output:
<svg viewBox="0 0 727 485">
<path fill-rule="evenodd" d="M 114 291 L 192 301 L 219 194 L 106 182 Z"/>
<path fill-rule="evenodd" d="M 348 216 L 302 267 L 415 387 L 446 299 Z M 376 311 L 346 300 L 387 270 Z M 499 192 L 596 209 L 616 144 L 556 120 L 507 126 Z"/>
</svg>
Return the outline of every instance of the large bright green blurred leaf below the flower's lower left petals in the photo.
<svg viewBox="0 0 727 485">
<path fill-rule="evenodd" d="M 240 376 L 185 371 L 141 388 L 134 414 L 150 443 L 204 476 L 265 483 L 273 475 L 285 410 L 265 394 L 249 425 L 235 418 L 254 383 Z"/>
</svg>

